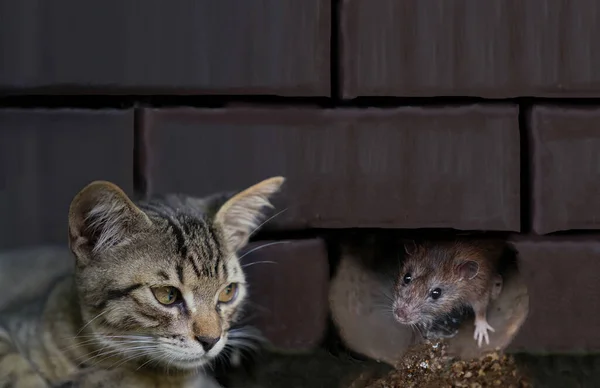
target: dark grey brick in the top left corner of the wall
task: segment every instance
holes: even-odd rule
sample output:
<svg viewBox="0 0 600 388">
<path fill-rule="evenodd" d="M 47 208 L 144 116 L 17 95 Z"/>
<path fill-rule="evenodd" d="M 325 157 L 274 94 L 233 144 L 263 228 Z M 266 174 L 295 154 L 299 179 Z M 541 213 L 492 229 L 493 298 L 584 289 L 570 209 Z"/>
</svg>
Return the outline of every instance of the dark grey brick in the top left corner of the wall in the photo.
<svg viewBox="0 0 600 388">
<path fill-rule="evenodd" d="M 0 0 L 0 89 L 330 94 L 330 0 Z"/>
</svg>

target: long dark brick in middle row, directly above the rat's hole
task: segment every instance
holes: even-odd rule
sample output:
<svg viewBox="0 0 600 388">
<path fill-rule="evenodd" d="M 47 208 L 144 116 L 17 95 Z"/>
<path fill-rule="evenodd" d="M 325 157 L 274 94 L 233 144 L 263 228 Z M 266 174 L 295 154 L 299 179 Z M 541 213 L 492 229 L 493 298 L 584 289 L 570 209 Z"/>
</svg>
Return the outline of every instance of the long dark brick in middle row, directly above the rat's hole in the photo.
<svg viewBox="0 0 600 388">
<path fill-rule="evenodd" d="M 518 231 L 516 107 L 149 110 L 150 184 L 205 195 L 288 177 L 271 226 Z"/>
</svg>

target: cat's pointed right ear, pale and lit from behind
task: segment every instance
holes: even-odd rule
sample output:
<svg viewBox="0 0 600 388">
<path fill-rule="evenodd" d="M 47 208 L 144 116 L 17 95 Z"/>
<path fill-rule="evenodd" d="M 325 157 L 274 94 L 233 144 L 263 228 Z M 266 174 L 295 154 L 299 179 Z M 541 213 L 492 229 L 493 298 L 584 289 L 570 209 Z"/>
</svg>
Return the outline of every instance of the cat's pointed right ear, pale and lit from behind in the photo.
<svg viewBox="0 0 600 388">
<path fill-rule="evenodd" d="M 279 191 L 285 181 L 283 177 L 264 180 L 233 196 L 215 215 L 215 224 L 220 225 L 229 246 L 237 251 L 248 242 L 263 218 L 264 207 L 272 207 L 269 197 Z"/>
</svg>

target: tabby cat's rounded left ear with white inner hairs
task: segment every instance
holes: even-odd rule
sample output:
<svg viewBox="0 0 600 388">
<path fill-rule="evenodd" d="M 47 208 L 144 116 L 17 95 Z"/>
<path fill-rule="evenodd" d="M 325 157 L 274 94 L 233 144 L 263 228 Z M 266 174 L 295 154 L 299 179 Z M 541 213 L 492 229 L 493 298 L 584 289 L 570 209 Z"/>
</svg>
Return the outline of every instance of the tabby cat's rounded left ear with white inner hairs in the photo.
<svg viewBox="0 0 600 388">
<path fill-rule="evenodd" d="M 83 188 L 69 208 L 69 244 L 78 260 L 125 243 L 136 230 L 152 222 L 127 194 L 113 183 L 92 182 Z"/>
</svg>

